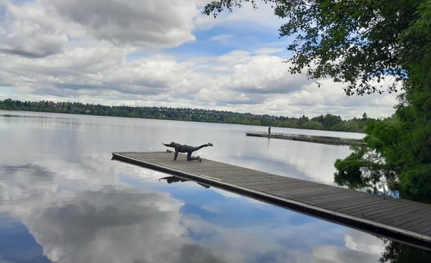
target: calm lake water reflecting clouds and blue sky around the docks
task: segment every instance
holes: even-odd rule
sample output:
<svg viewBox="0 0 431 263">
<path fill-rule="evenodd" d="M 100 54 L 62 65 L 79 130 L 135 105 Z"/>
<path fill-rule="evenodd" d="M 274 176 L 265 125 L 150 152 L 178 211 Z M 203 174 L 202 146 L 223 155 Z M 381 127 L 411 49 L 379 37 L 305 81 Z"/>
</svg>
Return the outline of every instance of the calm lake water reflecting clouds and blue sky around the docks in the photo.
<svg viewBox="0 0 431 263">
<path fill-rule="evenodd" d="M 428 258 L 421 249 L 192 181 L 168 184 L 166 174 L 111 160 L 113 151 L 164 151 L 161 141 L 212 142 L 198 151 L 202 158 L 333 184 L 333 163 L 350 153 L 245 136 L 252 131 L 267 127 L 0 111 L 0 262 L 378 262 L 394 247 L 409 251 L 406 262 Z"/>
</svg>

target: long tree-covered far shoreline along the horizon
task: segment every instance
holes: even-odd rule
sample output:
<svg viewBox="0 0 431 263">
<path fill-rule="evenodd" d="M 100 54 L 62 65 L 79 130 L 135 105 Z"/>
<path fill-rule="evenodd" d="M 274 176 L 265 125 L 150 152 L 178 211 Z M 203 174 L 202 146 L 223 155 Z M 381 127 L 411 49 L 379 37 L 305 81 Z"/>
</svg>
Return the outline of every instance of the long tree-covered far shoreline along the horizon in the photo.
<svg viewBox="0 0 431 263">
<path fill-rule="evenodd" d="M 270 116 L 267 114 L 203 110 L 197 108 L 107 106 L 79 102 L 18 101 L 13 99 L 0 100 L 0 110 L 153 118 L 171 121 L 228 123 L 357 133 L 364 133 L 367 127 L 367 121 L 374 120 L 373 118 L 368 118 L 365 112 L 361 118 L 343 120 L 341 116 L 332 114 L 322 114 L 313 118 L 302 115 L 302 117 L 296 118 L 287 116 Z"/>
</svg>

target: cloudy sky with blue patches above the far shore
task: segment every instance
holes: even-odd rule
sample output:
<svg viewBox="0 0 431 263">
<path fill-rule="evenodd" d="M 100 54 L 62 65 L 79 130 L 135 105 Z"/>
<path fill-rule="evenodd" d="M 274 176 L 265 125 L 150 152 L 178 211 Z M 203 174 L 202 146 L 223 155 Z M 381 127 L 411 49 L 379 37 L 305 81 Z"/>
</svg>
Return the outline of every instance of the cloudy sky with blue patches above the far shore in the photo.
<svg viewBox="0 0 431 263">
<path fill-rule="evenodd" d="M 217 18 L 209 0 L 0 0 L 0 99 L 391 116 L 396 95 L 348 97 L 291 75 L 270 5 Z"/>
</svg>

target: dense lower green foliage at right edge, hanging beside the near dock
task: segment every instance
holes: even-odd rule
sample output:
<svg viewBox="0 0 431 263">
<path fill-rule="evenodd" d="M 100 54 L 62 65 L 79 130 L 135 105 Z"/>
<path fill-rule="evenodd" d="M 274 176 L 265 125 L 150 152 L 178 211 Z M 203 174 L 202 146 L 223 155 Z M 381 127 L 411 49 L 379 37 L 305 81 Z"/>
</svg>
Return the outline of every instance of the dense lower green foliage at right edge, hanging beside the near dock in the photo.
<svg viewBox="0 0 431 263">
<path fill-rule="evenodd" d="M 335 166 L 338 173 L 342 173 L 343 167 L 355 160 L 363 169 L 361 177 L 364 180 L 374 173 L 387 176 L 392 171 L 397 175 L 397 181 L 390 186 L 400 190 L 402 197 L 417 201 L 431 200 L 431 86 L 426 79 L 422 77 L 416 82 L 415 78 L 411 78 L 406 82 L 408 93 L 400 98 L 402 101 L 394 118 L 368 121 L 367 147 L 353 149 L 354 153 L 348 158 L 337 160 Z M 365 155 L 376 155 L 374 162 L 383 165 L 367 166 Z M 337 179 L 337 175 L 336 181 L 349 185 Z"/>
</svg>

